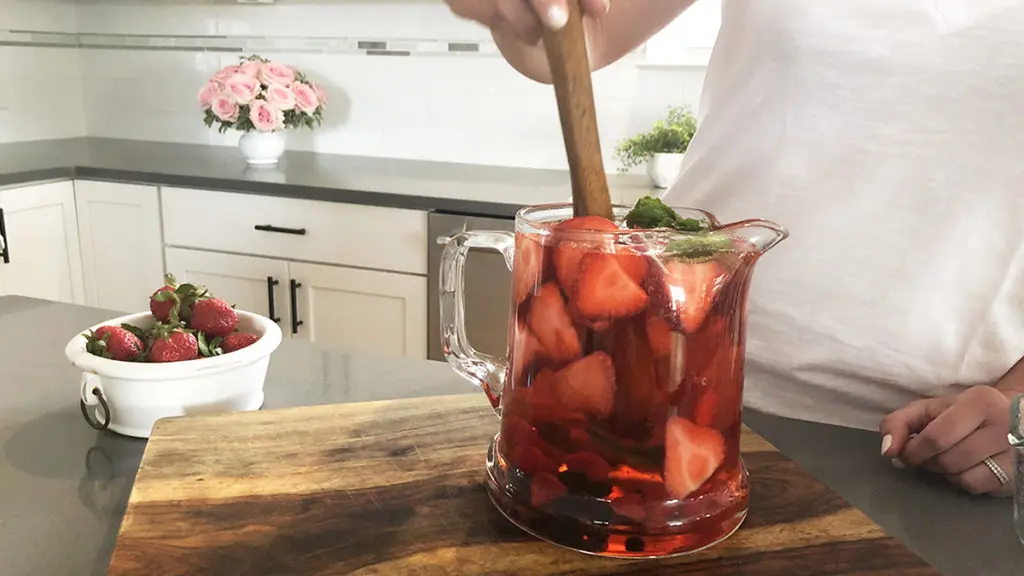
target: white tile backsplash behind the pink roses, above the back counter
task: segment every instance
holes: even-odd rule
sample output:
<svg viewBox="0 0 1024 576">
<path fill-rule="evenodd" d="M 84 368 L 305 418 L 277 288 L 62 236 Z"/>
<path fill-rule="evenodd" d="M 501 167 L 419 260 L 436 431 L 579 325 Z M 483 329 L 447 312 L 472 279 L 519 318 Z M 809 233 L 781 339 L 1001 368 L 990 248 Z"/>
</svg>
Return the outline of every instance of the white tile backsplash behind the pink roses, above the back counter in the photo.
<svg viewBox="0 0 1024 576">
<path fill-rule="evenodd" d="M 492 46 L 485 30 L 453 16 L 439 0 L 270 6 L 0 0 L 0 14 L 7 13 L 17 14 L 11 22 L 38 25 L 31 30 L 85 36 L 82 48 L 0 47 L 5 61 L 31 60 L 15 64 L 22 85 L 10 88 L 9 106 L 0 109 L 0 140 L 88 133 L 233 146 L 237 134 L 220 135 L 203 125 L 196 94 L 210 75 L 240 55 L 206 49 L 217 41 L 202 37 L 245 36 L 266 37 L 273 48 L 262 55 L 306 72 L 331 97 L 325 126 L 289 134 L 291 149 L 565 166 L 550 86 L 521 77 L 494 54 L 417 51 L 447 42 L 482 42 L 483 52 Z M 0 28 L 13 29 L 6 22 L 0 20 Z M 125 41 L 111 35 L 132 35 L 133 45 L 165 48 L 90 47 Z M 161 38 L 140 41 L 140 36 Z M 414 55 L 311 48 L 364 39 L 388 42 L 390 49 L 408 47 Z M 240 39 L 219 41 L 242 45 Z M 189 44 L 194 47 L 181 49 Z M 702 79 L 702 68 L 641 67 L 636 58 L 598 72 L 595 98 L 607 169 L 616 168 L 612 151 L 618 139 L 647 128 L 669 106 L 695 109 Z M 53 108 L 59 112 L 43 114 L 41 121 L 41 111 Z"/>
</svg>

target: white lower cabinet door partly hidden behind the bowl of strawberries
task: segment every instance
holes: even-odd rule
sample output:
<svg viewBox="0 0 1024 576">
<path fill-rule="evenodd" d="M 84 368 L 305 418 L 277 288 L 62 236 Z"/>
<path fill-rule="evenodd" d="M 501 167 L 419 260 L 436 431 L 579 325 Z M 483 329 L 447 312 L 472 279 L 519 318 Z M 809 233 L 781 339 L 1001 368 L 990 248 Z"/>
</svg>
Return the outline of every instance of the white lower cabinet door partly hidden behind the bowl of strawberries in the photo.
<svg viewBox="0 0 1024 576">
<path fill-rule="evenodd" d="M 167 272 L 178 282 L 202 284 L 214 296 L 244 310 L 280 319 L 288 334 L 288 262 L 204 250 L 168 248 Z"/>
</svg>

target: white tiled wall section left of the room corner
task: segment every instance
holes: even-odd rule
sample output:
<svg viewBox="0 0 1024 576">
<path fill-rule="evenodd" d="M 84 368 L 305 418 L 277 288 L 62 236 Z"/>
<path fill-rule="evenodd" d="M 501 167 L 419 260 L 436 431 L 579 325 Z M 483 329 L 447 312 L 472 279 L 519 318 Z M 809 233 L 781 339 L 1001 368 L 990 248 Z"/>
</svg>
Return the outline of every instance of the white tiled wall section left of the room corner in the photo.
<svg viewBox="0 0 1024 576">
<path fill-rule="evenodd" d="M 75 29 L 70 0 L 0 0 L 0 142 L 85 134 Z"/>
</svg>

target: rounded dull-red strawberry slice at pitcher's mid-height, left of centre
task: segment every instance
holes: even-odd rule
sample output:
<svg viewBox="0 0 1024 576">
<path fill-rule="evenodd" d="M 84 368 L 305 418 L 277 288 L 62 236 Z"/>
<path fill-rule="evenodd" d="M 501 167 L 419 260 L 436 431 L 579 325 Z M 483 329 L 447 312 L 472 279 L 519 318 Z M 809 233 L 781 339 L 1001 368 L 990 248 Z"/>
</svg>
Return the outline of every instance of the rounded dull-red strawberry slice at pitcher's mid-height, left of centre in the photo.
<svg viewBox="0 0 1024 576">
<path fill-rule="evenodd" d="M 615 402 L 615 368 L 603 352 L 582 358 L 556 373 L 558 399 L 565 408 L 606 418 Z"/>
</svg>

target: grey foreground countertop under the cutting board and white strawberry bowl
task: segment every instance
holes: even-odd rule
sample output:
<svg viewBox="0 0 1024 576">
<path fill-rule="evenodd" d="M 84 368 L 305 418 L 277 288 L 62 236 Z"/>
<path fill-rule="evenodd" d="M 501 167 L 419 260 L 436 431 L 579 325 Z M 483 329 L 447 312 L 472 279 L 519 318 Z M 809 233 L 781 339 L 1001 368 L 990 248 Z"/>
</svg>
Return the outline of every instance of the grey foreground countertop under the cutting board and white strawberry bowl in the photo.
<svg viewBox="0 0 1024 576">
<path fill-rule="evenodd" d="M 144 441 L 97 433 L 78 409 L 68 340 L 115 313 L 0 297 L 0 559 L 4 576 L 106 571 Z M 286 340 L 266 407 L 476 390 L 442 363 L 376 359 Z M 1012 503 L 897 470 L 878 435 L 744 413 L 746 423 L 948 576 L 1024 574 Z M 755 480 L 756 482 L 756 480 Z"/>
</svg>

